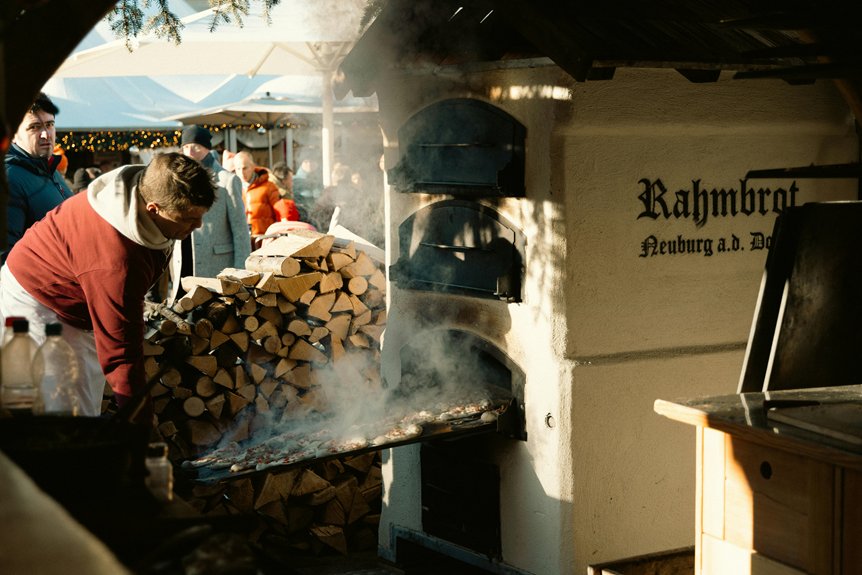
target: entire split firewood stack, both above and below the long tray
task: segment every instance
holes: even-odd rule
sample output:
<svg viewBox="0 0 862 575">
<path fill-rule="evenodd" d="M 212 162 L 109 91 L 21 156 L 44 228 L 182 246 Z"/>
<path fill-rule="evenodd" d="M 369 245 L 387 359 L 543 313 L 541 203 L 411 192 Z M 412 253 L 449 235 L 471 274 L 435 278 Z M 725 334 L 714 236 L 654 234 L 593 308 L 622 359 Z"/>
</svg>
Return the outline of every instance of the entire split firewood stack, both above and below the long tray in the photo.
<svg viewBox="0 0 862 575">
<path fill-rule="evenodd" d="M 361 246 L 291 232 L 244 269 L 185 277 L 185 295 L 150 313 L 145 343 L 158 430 L 175 464 L 327 410 L 333 373 L 380 389 L 386 325 L 383 263 Z M 202 513 L 260 518 L 255 539 L 339 552 L 376 541 L 379 454 L 312 462 L 223 484 L 196 485 Z"/>
</svg>

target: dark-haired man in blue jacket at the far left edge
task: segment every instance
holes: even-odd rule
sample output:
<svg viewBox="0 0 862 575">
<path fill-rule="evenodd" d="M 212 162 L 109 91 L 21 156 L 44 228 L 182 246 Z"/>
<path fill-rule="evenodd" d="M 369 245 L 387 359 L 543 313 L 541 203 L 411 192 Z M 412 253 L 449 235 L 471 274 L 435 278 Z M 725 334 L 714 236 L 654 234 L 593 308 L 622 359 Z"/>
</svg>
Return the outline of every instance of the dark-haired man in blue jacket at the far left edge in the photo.
<svg viewBox="0 0 862 575">
<path fill-rule="evenodd" d="M 45 217 L 60 202 L 72 197 L 57 166 L 63 159 L 54 154 L 57 130 L 54 116 L 59 109 L 44 93 L 39 93 L 21 120 L 6 152 L 6 180 L 9 200 L 6 206 L 6 254 L 21 239 L 27 228 Z"/>
</svg>

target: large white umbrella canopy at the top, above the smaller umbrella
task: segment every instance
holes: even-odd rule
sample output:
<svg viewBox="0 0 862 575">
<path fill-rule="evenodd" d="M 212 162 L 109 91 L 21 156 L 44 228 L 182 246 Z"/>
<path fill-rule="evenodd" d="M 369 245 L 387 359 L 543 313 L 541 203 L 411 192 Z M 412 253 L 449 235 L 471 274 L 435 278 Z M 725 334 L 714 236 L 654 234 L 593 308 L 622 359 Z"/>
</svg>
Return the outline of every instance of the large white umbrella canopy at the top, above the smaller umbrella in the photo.
<svg viewBox="0 0 862 575">
<path fill-rule="evenodd" d="M 250 12 L 243 26 L 220 23 L 213 11 L 181 18 L 182 42 L 139 36 L 129 52 L 114 40 L 74 52 L 55 77 L 184 74 L 285 75 L 333 71 L 360 36 L 364 0 L 282 0 L 271 24 Z"/>
</svg>

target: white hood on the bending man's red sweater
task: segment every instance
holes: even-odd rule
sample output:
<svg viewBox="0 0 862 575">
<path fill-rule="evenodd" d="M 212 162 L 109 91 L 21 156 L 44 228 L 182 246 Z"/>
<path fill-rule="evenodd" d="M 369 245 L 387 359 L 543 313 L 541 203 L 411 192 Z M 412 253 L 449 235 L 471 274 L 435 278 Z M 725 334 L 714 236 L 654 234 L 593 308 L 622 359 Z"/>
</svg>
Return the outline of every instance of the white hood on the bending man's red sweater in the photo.
<svg viewBox="0 0 862 575">
<path fill-rule="evenodd" d="M 136 244 L 167 250 L 173 240 L 162 235 L 138 195 L 138 180 L 144 168 L 123 166 L 99 176 L 87 187 L 87 199 L 97 214 Z"/>
</svg>

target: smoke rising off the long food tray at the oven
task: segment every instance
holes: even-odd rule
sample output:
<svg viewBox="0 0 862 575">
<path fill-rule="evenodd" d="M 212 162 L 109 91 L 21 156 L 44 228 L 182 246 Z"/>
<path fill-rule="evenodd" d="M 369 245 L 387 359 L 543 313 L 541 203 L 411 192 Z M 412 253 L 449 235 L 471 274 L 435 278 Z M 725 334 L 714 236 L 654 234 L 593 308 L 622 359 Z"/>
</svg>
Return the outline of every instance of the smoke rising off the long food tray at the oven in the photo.
<svg viewBox="0 0 862 575">
<path fill-rule="evenodd" d="M 463 406 L 498 407 L 512 397 L 508 369 L 482 340 L 455 330 L 418 332 L 402 349 L 400 381 L 390 386 L 380 381 L 374 353 L 348 353 L 312 373 L 305 394 L 294 391 L 283 409 L 252 415 L 249 446 L 282 435 L 370 440 L 395 425 L 445 422 L 463 415 Z"/>
</svg>

